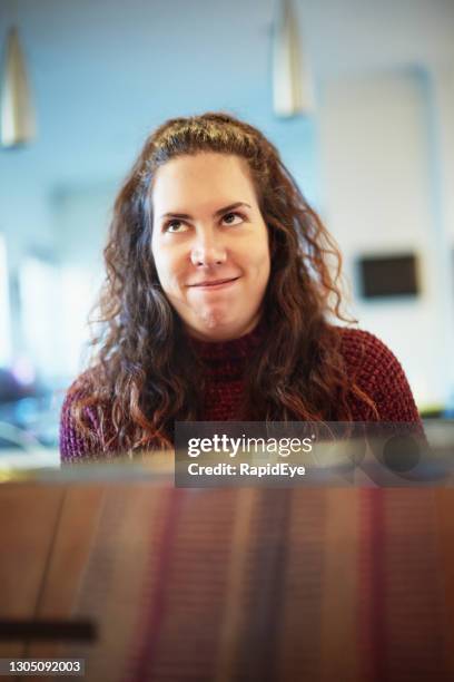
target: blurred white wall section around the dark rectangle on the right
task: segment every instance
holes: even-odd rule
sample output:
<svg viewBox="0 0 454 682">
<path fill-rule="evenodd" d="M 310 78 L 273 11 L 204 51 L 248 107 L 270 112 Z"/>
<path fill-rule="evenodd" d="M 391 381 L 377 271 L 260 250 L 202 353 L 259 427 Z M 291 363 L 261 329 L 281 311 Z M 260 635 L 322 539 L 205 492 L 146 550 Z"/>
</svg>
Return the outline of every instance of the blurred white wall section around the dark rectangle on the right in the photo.
<svg viewBox="0 0 454 682">
<path fill-rule="evenodd" d="M 325 217 L 354 292 L 358 255 L 418 256 L 421 296 L 367 302 L 356 296 L 351 310 L 402 360 L 422 406 L 443 402 L 451 389 L 453 330 L 445 313 L 454 303 L 444 259 L 452 225 L 438 210 L 430 86 L 431 76 L 414 69 L 326 82 L 320 116 Z"/>
</svg>

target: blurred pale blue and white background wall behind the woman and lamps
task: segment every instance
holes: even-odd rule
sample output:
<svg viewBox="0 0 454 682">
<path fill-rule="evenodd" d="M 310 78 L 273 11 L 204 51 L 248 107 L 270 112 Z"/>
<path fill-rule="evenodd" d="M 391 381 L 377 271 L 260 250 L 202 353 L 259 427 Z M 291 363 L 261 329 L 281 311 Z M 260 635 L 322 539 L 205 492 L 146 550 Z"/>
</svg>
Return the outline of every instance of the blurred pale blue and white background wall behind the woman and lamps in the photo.
<svg viewBox="0 0 454 682">
<path fill-rule="evenodd" d="M 277 0 L 276 0 L 277 1 Z M 418 407 L 454 393 L 454 2 L 295 0 L 315 107 L 273 113 L 272 0 L 1 0 L 17 26 L 33 143 L 0 148 L 0 367 L 66 388 L 83 364 L 112 201 L 147 134 L 224 109 L 277 145 L 337 240 L 349 310 Z M 417 295 L 365 299 L 364 255 L 413 253 Z M 48 440 L 56 437 L 58 401 Z"/>
</svg>

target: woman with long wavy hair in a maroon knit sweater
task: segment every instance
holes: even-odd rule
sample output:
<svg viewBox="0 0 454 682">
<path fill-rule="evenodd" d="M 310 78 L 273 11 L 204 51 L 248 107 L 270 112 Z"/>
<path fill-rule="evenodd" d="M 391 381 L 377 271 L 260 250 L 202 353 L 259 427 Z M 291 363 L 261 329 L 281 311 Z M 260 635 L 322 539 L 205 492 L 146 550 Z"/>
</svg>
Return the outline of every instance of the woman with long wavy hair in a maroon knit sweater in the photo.
<svg viewBox="0 0 454 682">
<path fill-rule="evenodd" d="M 103 329 L 63 403 L 63 459 L 171 447 L 175 420 L 418 421 L 392 352 L 328 321 L 346 321 L 339 253 L 253 126 L 205 114 L 158 128 L 105 260 Z"/>
</svg>

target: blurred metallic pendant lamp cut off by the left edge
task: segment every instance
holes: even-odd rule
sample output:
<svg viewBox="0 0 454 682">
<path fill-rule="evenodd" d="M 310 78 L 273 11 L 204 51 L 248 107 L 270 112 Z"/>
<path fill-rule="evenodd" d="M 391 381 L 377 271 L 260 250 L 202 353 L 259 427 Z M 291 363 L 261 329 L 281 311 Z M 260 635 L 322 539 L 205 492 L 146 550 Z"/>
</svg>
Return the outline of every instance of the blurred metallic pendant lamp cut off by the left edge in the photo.
<svg viewBox="0 0 454 682">
<path fill-rule="evenodd" d="M 1 81 L 0 144 L 14 147 L 31 142 L 36 135 L 34 110 L 27 79 L 26 61 L 16 28 L 7 38 Z"/>
</svg>

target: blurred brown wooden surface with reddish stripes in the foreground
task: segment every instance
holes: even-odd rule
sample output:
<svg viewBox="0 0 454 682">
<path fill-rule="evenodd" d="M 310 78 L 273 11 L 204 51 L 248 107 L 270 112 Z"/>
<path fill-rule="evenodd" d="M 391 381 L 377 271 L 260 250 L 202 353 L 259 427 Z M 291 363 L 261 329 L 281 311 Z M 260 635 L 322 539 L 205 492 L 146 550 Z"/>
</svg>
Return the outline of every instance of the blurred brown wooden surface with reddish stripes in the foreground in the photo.
<svg viewBox="0 0 454 682">
<path fill-rule="evenodd" d="M 3 641 L 1 657 L 82 656 L 87 680 L 160 680 L 191 660 L 199 627 L 213 649 L 200 679 L 258 679 L 268 632 L 269 679 L 454 680 L 453 490 L 4 484 L 0 518 L 0 617 L 85 617 L 99 632 Z M 185 665 L 179 679 L 196 679 Z"/>
</svg>

